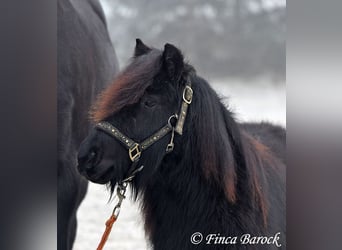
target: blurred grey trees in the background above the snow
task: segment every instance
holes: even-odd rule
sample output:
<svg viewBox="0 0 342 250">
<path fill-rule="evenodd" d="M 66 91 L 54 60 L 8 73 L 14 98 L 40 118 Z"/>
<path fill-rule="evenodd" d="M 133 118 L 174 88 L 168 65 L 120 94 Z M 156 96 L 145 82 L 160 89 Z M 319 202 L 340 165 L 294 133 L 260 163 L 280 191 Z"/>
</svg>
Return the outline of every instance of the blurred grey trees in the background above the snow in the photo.
<svg viewBox="0 0 342 250">
<path fill-rule="evenodd" d="M 286 6 L 281 0 L 273 6 L 264 0 L 102 2 L 121 64 L 139 37 L 160 48 L 166 42 L 178 45 L 211 78 L 285 78 Z"/>
</svg>

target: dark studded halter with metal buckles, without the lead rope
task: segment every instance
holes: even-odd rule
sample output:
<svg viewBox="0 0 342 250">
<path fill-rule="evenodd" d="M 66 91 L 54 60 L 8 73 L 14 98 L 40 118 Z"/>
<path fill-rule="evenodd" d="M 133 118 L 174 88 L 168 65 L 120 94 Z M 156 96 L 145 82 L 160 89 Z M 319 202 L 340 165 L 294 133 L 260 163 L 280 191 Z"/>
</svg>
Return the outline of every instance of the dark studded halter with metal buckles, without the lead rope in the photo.
<svg viewBox="0 0 342 250">
<path fill-rule="evenodd" d="M 109 122 L 99 122 L 96 124 L 96 128 L 103 130 L 110 136 L 117 139 L 124 147 L 128 149 L 128 156 L 132 161 L 132 165 L 128 171 L 127 177 L 122 182 L 128 182 L 131 181 L 135 174 L 142 170 L 144 166 L 141 166 L 137 168 L 138 162 L 140 160 L 141 153 L 149 148 L 151 145 L 153 145 L 155 142 L 162 139 L 164 136 L 166 136 L 168 133 L 171 134 L 171 140 L 170 143 L 166 147 L 166 153 L 170 153 L 173 151 L 174 148 L 174 133 L 177 132 L 179 135 L 183 134 L 183 128 L 184 128 L 184 122 L 187 115 L 188 107 L 192 102 L 192 96 L 193 96 L 193 90 L 191 88 L 191 82 L 188 80 L 188 82 L 185 85 L 185 88 L 183 90 L 183 96 L 182 96 L 182 106 L 179 111 L 179 114 L 171 115 L 167 121 L 167 124 L 163 126 L 161 129 L 159 129 L 157 132 L 149 136 L 147 139 L 143 140 L 142 142 L 138 143 L 120 132 L 120 130 L 116 127 L 114 127 Z M 172 125 L 172 119 L 176 119 L 177 123 L 176 126 Z"/>
</svg>

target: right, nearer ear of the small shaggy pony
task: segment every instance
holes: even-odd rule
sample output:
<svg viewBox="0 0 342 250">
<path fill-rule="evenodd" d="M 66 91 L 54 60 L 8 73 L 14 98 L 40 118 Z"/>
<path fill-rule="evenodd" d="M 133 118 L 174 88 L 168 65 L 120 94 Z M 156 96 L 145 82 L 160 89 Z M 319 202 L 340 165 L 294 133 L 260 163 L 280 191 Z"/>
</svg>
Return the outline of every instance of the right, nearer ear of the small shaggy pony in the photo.
<svg viewBox="0 0 342 250">
<path fill-rule="evenodd" d="M 183 55 L 172 44 L 167 43 L 164 46 L 163 66 L 172 81 L 180 79 L 184 68 Z"/>
</svg>

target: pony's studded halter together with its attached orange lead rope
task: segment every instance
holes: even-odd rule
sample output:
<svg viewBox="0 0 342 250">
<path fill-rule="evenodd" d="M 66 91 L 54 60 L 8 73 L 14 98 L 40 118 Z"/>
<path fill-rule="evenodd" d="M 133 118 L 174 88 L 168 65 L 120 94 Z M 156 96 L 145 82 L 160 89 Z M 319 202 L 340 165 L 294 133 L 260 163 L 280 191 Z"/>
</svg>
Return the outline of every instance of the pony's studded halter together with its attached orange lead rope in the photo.
<svg viewBox="0 0 342 250">
<path fill-rule="evenodd" d="M 107 134 L 109 134 L 110 136 L 114 137 L 125 148 L 128 149 L 128 156 L 130 160 L 132 161 L 132 164 L 127 172 L 126 177 L 124 178 L 124 180 L 118 183 L 116 191 L 117 191 L 117 196 L 119 198 L 119 201 L 114 207 L 111 217 L 106 222 L 106 230 L 102 235 L 102 239 L 97 247 L 97 250 L 103 249 L 103 246 L 108 239 L 112 226 L 119 216 L 121 203 L 123 199 L 126 198 L 125 193 L 126 193 L 126 188 L 127 188 L 128 183 L 132 181 L 135 175 L 144 168 L 143 165 L 138 167 L 142 152 L 169 133 L 171 133 L 171 140 L 169 144 L 167 145 L 165 151 L 166 153 L 170 153 L 173 151 L 174 149 L 173 140 L 174 140 L 175 132 L 179 135 L 183 134 L 184 122 L 186 119 L 189 105 L 192 102 L 192 97 L 193 97 L 193 90 L 191 88 L 190 78 L 188 77 L 187 83 L 185 84 L 185 88 L 183 89 L 182 105 L 181 105 L 179 113 L 171 115 L 165 126 L 163 126 L 157 132 L 155 132 L 154 134 L 152 134 L 151 136 L 149 136 L 147 139 L 143 140 L 140 143 L 135 142 L 134 140 L 132 140 L 131 138 L 123 134 L 118 128 L 114 127 L 109 122 L 103 121 L 103 122 L 99 122 L 98 124 L 96 124 L 97 129 L 100 129 L 106 132 Z M 177 120 L 177 123 L 175 126 L 173 126 L 173 123 L 172 123 L 173 119 Z"/>
</svg>

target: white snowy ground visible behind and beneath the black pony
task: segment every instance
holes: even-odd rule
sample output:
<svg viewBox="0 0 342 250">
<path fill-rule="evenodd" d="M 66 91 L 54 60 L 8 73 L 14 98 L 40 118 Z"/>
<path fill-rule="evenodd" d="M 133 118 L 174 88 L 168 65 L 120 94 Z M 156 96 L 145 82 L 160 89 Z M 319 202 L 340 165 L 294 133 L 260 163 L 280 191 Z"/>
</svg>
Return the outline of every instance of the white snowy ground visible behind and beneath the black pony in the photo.
<svg viewBox="0 0 342 250">
<path fill-rule="evenodd" d="M 286 125 L 286 88 L 269 83 L 242 84 L 229 80 L 223 85 L 212 85 L 223 97 L 228 97 L 229 106 L 239 121 L 270 121 Z M 129 196 L 129 194 L 128 194 Z M 109 195 L 101 185 L 89 184 L 88 194 L 78 211 L 78 232 L 74 250 L 94 250 L 110 216 L 114 202 L 108 204 Z M 121 214 L 114 224 L 105 249 L 149 249 L 143 231 L 139 207 L 129 199 L 123 202 Z"/>
</svg>

